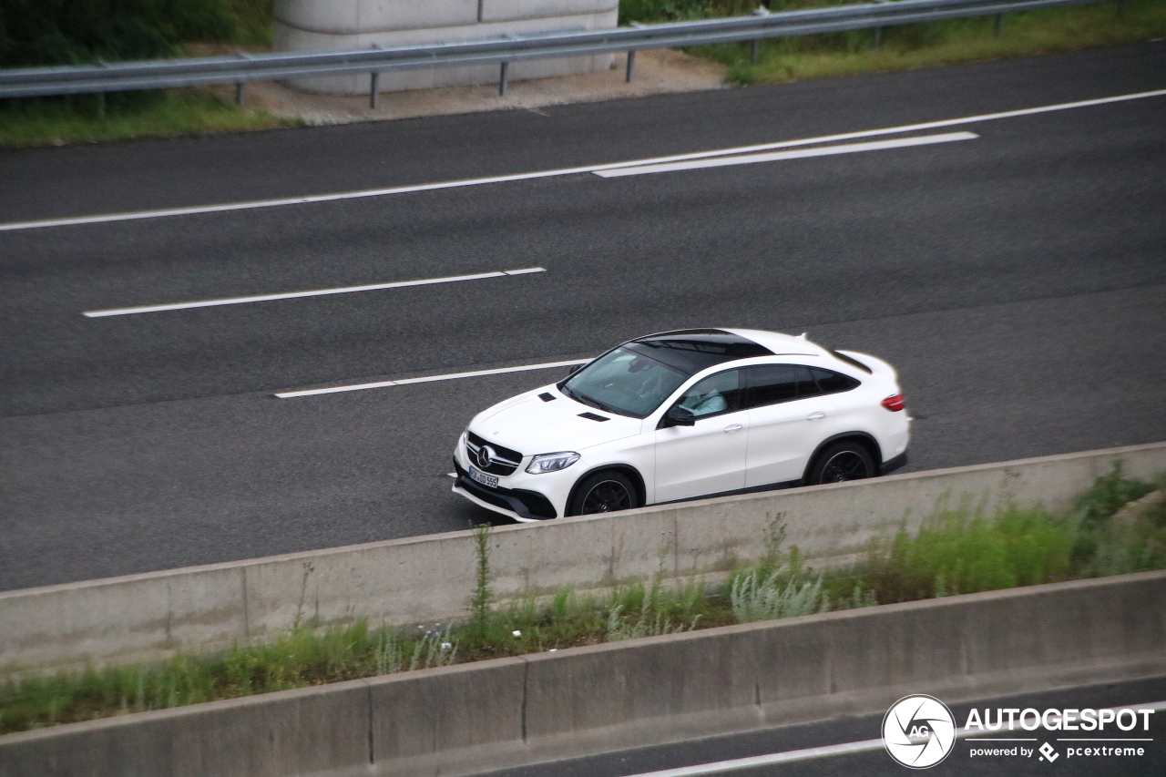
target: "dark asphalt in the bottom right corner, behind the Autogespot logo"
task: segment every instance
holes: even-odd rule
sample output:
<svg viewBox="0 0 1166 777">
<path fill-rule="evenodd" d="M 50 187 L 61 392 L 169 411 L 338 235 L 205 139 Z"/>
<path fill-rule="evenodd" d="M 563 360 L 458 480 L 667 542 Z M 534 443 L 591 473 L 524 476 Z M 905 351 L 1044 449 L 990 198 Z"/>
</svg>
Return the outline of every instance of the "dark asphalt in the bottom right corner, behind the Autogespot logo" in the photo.
<svg viewBox="0 0 1166 777">
<path fill-rule="evenodd" d="M 1166 678 L 1115 682 L 1076 688 L 1062 688 L 1045 693 L 997 696 L 977 700 L 970 704 L 949 705 L 956 726 L 962 727 L 968 715 L 976 708 L 981 719 L 984 709 L 991 710 L 992 721 L 998 718 L 997 709 L 1024 710 L 1032 708 L 1044 713 L 1046 709 L 1102 709 L 1122 708 L 1138 709 L 1145 705 L 1166 701 Z M 1056 720 L 1051 715 L 1049 720 Z M 1005 718 L 1006 720 L 1006 718 Z M 1033 726 L 1028 715 L 1026 724 Z M 1150 730 L 1143 730 L 1149 723 Z M 1130 716 L 1123 715 L 1123 726 L 1130 727 Z M 878 740 L 883 733 L 883 713 L 863 716 L 843 716 L 835 720 L 807 723 L 801 726 L 784 726 L 767 730 L 751 732 L 732 736 L 691 740 L 676 744 L 662 744 L 609 752 L 588 758 L 573 758 L 554 763 L 542 763 L 536 766 L 508 769 L 489 772 L 490 777 L 649 777 L 652 772 L 693 768 L 695 772 L 718 774 L 711 768 L 724 762 L 757 756 L 789 754 L 809 748 L 830 748 L 831 746 L 870 742 Z M 1009 775 L 1009 777 L 1160 777 L 1166 774 L 1166 710 L 1159 709 L 1149 716 L 1137 716 L 1137 724 L 1131 730 L 1121 730 L 1109 723 L 1101 732 L 1060 732 L 1038 728 L 1025 732 L 1017 728 L 1013 734 L 986 734 L 988 737 L 1014 737 L 1028 741 L 976 741 L 976 738 L 956 740 L 947 757 L 925 770 L 928 777 L 948 777 L 960 775 L 977 777 L 979 775 Z M 1109 742 L 1084 742 L 1067 740 L 1121 740 Z M 1126 741 L 1150 740 L 1150 741 Z M 1052 748 L 1048 757 L 1042 757 L 1040 748 L 1044 744 Z M 1021 755 L 1024 747 L 1030 755 Z M 1084 748 L 1143 748 L 1140 756 L 1118 755 L 1103 750 L 1102 755 L 1088 754 Z M 982 755 L 983 750 L 1010 750 L 1017 752 L 1002 755 Z M 1069 752 L 1074 748 L 1074 752 Z M 1076 748 L 1081 748 L 1080 755 Z M 975 752 L 975 755 L 972 755 Z M 1049 760 L 1051 758 L 1051 760 Z M 705 769 L 700 769 L 704 766 Z M 823 754 L 789 763 L 771 764 L 751 769 L 723 771 L 721 775 L 733 777 L 834 777 L 836 775 L 862 775 L 863 777 L 904 777 L 913 774 L 900 765 L 881 748 L 851 754 Z M 693 777 L 697 777 L 696 774 Z"/>
</svg>

